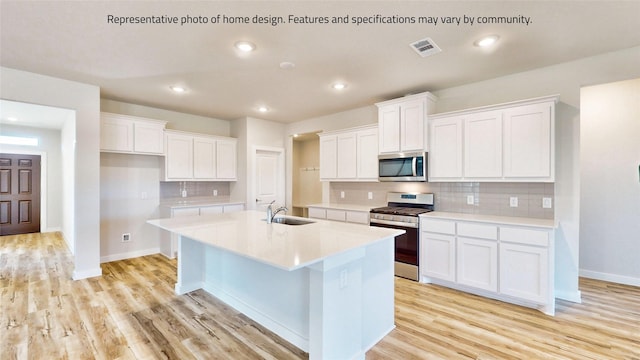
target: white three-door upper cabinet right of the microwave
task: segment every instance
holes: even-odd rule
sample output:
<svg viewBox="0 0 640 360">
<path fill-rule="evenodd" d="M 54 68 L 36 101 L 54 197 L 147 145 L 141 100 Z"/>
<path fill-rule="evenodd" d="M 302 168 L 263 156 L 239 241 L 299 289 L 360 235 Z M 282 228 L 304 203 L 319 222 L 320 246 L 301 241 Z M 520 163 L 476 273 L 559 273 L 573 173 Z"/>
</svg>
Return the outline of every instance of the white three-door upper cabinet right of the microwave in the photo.
<svg viewBox="0 0 640 360">
<path fill-rule="evenodd" d="M 430 181 L 555 181 L 549 96 L 429 118 Z"/>
</svg>

